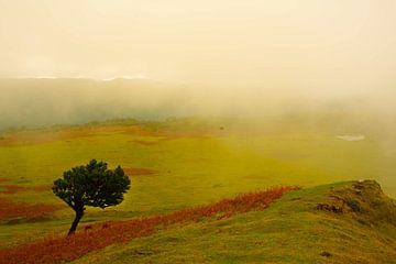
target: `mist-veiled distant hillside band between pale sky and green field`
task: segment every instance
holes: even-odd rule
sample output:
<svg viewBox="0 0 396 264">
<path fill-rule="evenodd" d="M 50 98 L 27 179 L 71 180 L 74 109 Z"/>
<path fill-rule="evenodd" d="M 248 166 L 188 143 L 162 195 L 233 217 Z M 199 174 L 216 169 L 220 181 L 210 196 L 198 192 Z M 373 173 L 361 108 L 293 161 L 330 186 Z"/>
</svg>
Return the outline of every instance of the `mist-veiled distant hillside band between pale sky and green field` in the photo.
<svg viewBox="0 0 396 264">
<path fill-rule="evenodd" d="M 110 119 L 157 120 L 180 117 L 263 118 L 309 116 L 392 116 L 393 92 L 329 97 L 275 88 L 211 90 L 151 79 L 0 79 L 0 130 L 76 124 Z M 384 116 L 385 113 L 385 116 Z M 312 118 L 312 117 L 311 117 Z M 323 118 L 323 117 L 321 117 Z"/>
</svg>

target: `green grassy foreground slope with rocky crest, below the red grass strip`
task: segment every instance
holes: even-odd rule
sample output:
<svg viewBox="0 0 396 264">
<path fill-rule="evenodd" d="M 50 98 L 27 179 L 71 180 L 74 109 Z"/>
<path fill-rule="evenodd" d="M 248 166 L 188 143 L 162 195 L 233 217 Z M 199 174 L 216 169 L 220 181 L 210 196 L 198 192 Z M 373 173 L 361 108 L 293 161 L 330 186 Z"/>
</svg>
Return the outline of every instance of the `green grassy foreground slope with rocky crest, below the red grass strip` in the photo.
<svg viewBox="0 0 396 264">
<path fill-rule="evenodd" d="M 391 264 L 395 249 L 394 202 L 375 182 L 350 182 L 289 193 L 263 211 L 173 227 L 74 263 Z"/>
</svg>

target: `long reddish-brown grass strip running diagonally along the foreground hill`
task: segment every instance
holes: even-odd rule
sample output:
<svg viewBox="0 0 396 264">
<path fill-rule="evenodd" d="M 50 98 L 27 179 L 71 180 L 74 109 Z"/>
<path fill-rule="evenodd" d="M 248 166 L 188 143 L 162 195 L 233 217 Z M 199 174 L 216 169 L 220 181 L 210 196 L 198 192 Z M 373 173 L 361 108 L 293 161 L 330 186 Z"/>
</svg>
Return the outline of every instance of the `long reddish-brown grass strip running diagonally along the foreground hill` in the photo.
<svg viewBox="0 0 396 264">
<path fill-rule="evenodd" d="M 283 194 L 296 187 L 279 187 L 261 193 L 251 193 L 223 199 L 218 202 L 185 209 L 164 216 L 154 216 L 136 220 L 109 222 L 102 228 L 92 226 L 89 232 L 79 232 L 68 238 L 54 237 L 13 249 L 0 251 L 0 263 L 63 263 L 101 250 L 114 243 L 128 242 L 132 239 L 150 235 L 158 227 L 174 223 L 199 221 L 205 218 L 224 218 L 250 210 L 261 210 L 271 205 Z"/>
</svg>

